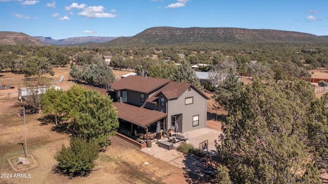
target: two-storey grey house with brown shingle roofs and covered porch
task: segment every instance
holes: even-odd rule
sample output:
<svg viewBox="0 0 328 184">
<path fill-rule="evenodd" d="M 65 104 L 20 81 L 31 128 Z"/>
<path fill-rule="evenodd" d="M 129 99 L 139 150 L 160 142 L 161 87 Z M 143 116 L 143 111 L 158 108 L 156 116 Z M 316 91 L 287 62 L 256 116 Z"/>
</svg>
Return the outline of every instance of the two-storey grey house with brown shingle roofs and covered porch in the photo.
<svg viewBox="0 0 328 184">
<path fill-rule="evenodd" d="M 206 127 L 209 98 L 189 83 L 130 75 L 112 83 L 111 91 L 118 132 L 129 137 L 156 132 L 158 122 L 166 133 L 176 124 L 181 133 Z"/>
</svg>

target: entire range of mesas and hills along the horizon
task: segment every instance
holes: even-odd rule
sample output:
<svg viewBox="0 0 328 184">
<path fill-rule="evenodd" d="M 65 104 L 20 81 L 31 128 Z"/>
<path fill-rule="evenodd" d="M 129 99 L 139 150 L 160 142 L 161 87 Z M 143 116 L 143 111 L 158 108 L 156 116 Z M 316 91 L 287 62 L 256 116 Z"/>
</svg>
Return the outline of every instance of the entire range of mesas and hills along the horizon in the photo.
<svg viewBox="0 0 328 184">
<path fill-rule="evenodd" d="M 18 32 L 0 32 L 0 44 L 77 45 L 114 47 L 131 45 L 172 45 L 185 43 L 328 43 L 328 36 L 295 31 L 244 28 L 153 27 L 130 37 L 86 36 L 53 39 Z"/>
</svg>

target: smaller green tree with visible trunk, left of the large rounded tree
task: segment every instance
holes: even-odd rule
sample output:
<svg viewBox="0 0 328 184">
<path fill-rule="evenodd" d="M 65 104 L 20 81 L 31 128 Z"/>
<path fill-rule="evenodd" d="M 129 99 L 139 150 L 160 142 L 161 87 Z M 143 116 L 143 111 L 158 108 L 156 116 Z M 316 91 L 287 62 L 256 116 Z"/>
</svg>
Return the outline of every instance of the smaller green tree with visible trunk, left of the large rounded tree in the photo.
<svg viewBox="0 0 328 184">
<path fill-rule="evenodd" d="M 58 118 L 65 113 L 63 108 L 63 90 L 56 90 L 55 88 L 49 88 L 46 93 L 40 96 L 40 105 L 42 105 L 42 112 L 44 114 L 52 114 L 55 116 L 55 125 L 58 126 Z"/>
</svg>

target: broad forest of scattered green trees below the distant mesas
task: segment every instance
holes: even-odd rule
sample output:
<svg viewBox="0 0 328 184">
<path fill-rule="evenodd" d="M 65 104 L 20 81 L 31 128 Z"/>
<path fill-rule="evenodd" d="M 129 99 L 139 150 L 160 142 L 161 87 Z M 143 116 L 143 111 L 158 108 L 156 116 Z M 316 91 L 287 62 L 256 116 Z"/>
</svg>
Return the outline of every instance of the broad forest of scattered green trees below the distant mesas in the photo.
<svg viewBox="0 0 328 184">
<path fill-rule="evenodd" d="M 276 80 L 290 77 L 309 77 L 306 70 L 328 66 L 327 44 L 177 44 L 169 46 L 131 47 L 58 47 L 30 45 L 1 45 L 0 71 L 11 70 L 29 76 L 53 74 L 52 67 L 63 67 L 73 61 L 78 67 L 91 66 L 103 55 L 112 55 L 116 69 L 134 69 L 148 76 L 165 76 L 154 73 L 154 65 L 162 66 L 171 58 L 180 62 L 178 53 L 186 55 L 190 65 L 216 66 L 229 60 L 238 73 L 264 75 L 269 73 Z M 158 59 L 146 57 L 156 54 Z M 257 61 L 253 63 L 251 61 Z M 168 60 L 170 62 L 170 60 Z M 269 69 L 268 69 L 269 68 Z M 209 68 L 208 70 L 211 70 Z"/>
</svg>

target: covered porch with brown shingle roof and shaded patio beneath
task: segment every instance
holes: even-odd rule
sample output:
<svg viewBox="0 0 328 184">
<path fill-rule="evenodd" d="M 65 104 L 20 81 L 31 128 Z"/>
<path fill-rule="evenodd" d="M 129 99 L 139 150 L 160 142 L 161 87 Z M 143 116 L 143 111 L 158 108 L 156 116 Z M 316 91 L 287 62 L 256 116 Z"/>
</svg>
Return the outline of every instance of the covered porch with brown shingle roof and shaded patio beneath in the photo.
<svg viewBox="0 0 328 184">
<path fill-rule="evenodd" d="M 156 129 L 158 129 L 159 124 L 160 130 L 165 130 L 166 113 L 125 103 L 113 103 L 113 105 L 118 111 L 118 133 L 135 141 L 140 141 L 140 139 L 160 139 L 162 133 L 157 133 L 156 137 L 156 132 L 158 132 Z"/>
</svg>

